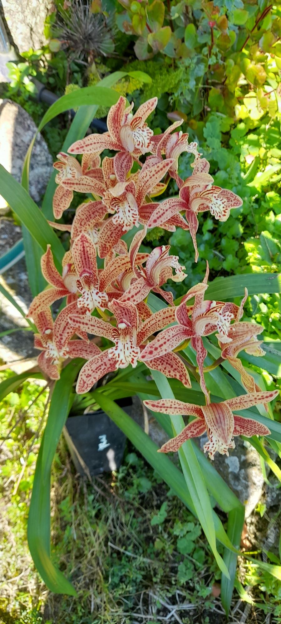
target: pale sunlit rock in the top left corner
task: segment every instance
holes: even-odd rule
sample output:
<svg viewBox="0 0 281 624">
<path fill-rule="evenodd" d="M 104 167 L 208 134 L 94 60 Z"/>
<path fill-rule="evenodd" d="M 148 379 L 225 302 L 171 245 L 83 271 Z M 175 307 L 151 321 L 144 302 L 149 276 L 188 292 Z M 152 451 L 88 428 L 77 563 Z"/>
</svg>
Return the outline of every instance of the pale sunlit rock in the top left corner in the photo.
<svg viewBox="0 0 281 624">
<path fill-rule="evenodd" d="M 35 50 L 46 44 L 44 21 L 51 0 L 2 0 L 2 12 L 18 51 Z"/>
</svg>

